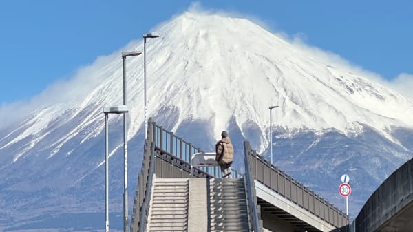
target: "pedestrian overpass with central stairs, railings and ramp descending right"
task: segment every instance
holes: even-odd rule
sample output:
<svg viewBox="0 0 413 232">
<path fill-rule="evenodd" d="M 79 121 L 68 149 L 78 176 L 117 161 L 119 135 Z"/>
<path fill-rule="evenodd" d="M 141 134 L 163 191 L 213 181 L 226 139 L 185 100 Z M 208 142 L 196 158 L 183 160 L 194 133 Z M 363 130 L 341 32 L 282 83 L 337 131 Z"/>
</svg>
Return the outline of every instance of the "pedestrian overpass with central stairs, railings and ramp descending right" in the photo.
<svg viewBox="0 0 413 232">
<path fill-rule="evenodd" d="M 244 142 L 245 173 L 222 179 L 219 167 L 193 167 L 202 152 L 151 122 L 131 232 L 343 231 L 348 216 L 279 170 Z"/>
</svg>

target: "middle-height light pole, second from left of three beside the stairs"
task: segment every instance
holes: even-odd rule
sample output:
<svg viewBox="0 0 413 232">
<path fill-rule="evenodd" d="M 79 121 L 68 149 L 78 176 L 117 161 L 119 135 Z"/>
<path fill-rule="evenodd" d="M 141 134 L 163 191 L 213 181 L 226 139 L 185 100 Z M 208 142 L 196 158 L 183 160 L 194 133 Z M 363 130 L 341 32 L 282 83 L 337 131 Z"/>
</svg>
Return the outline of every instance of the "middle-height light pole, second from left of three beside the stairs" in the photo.
<svg viewBox="0 0 413 232">
<path fill-rule="evenodd" d="M 126 57 L 139 56 L 142 52 L 122 52 L 123 60 L 123 105 L 126 106 Z M 127 133 L 126 133 L 126 113 L 123 114 L 123 232 L 127 232 L 129 228 L 129 220 L 127 218 Z"/>
</svg>

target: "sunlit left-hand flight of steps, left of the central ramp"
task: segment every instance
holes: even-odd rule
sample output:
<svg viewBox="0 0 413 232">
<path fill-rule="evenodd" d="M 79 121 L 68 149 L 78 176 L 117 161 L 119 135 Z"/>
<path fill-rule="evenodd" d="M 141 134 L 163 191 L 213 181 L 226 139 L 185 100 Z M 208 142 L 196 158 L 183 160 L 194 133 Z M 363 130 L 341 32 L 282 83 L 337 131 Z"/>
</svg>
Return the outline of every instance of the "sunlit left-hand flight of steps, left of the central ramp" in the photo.
<svg viewBox="0 0 413 232">
<path fill-rule="evenodd" d="M 147 231 L 188 231 L 189 179 L 153 180 Z"/>
</svg>

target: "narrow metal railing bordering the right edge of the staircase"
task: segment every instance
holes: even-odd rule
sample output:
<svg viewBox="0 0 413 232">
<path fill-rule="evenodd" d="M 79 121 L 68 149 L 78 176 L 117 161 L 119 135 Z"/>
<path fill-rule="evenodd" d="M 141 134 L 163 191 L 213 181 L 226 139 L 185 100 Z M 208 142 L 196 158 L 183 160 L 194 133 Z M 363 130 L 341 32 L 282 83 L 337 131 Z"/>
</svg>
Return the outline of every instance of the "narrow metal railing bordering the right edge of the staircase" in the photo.
<svg viewBox="0 0 413 232">
<path fill-rule="evenodd" d="M 253 229 L 255 232 L 260 232 L 260 220 L 258 217 L 258 212 L 257 212 L 257 207 L 254 201 L 254 196 L 253 196 L 253 180 L 251 180 L 251 174 L 250 174 L 250 167 L 248 164 L 248 152 L 251 151 L 251 149 L 248 149 L 250 147 L 248 141 L 244 141 L 244 165 L 245 165 L 245 175 L 244 179 L 246 181 L 246 188 L 247 188 L 247 194 L 248 194 L 248 214 L 253 220 Z"/>
</svg>

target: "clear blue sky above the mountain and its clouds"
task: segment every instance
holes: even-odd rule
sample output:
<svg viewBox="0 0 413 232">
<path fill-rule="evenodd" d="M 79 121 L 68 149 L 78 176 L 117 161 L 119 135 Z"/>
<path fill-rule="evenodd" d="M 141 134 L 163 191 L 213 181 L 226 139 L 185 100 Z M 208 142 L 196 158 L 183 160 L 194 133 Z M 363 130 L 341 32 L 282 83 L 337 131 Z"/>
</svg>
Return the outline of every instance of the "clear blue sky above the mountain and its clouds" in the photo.
<svg viewBox="0 0 413 232">
<path fill-rule="evenodd" d="M 231 12 L 392 81 L 413 75 L 410 1 L 10 0 L 0 3 L 0 107 L 28 101 L 187 10 Z"/>
</svg>

